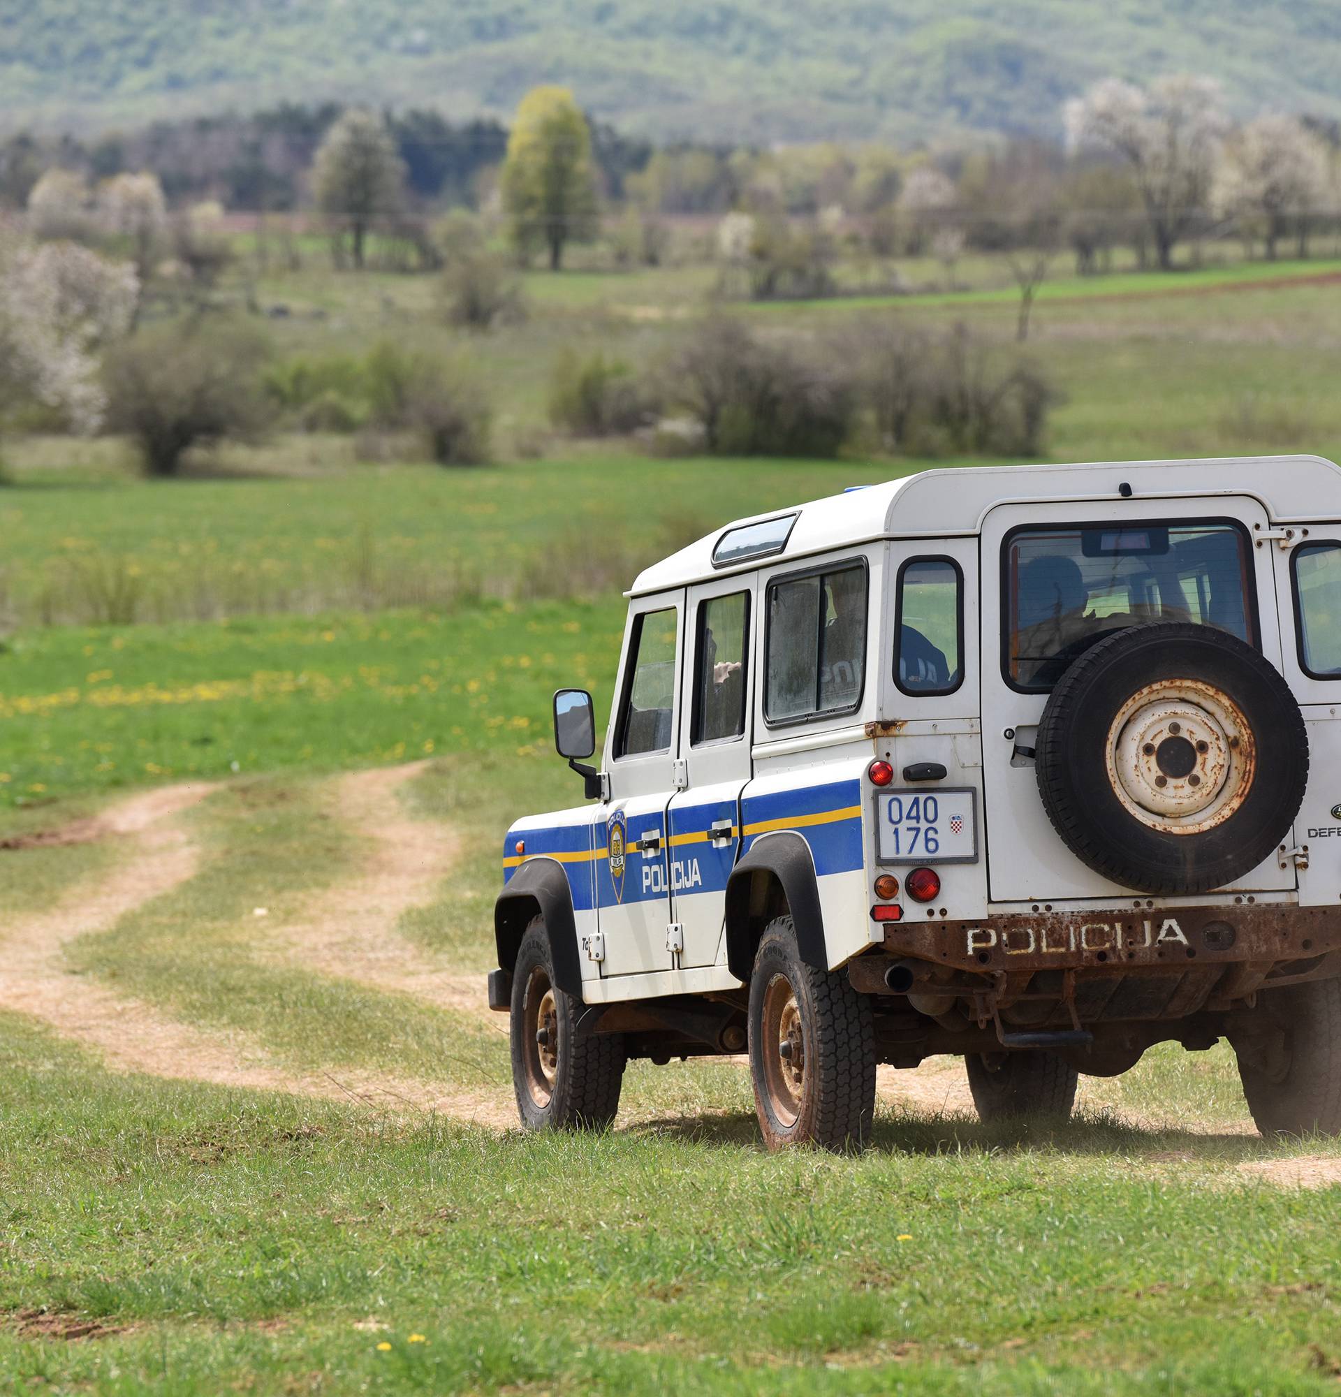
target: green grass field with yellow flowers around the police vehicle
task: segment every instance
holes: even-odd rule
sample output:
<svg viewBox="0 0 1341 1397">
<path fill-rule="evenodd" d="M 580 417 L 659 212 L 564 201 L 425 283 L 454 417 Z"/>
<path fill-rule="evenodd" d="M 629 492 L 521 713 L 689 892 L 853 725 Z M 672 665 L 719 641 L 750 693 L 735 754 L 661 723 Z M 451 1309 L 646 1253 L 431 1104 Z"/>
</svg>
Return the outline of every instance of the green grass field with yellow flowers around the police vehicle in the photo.
<svg viewBox="0 0 1341 1397">
<path fill-rule="evenodd" d="M 1150 295 L 1134 275 L 1115 278 L 1131 295 L 1059 285 L 1034 345 L 1066 393 L 1052 457 L 1341 450 L 1341 288 L 1289 285 L 1317 270 L 1282 270 L 1280 288 L 1225 277 L 1214 295 Z M 376 278 L 316 281 L 339 334 L 383 332 Z M 684 291 L 673 274 L 616 278 L 608 302 L 587 277 L 545 286 L 552 313 L 469 342 L 532 423 L 552 349 L 658 352 L 676 321 L 616 303 Z M 820 334 L 852 309 L 792 307 L 789 324 Z M 1009 298 L 905 313 L 1013 320 Z M 320 352 L 337 328 L 282 334 Z M 517 814 L 578 800 L 549 694 L 581 683 L 609 707 L 633 571 L 732 515 L 928 462 L 651 461 L 557 441 L 441 471 L 360 464 L 334 437 L 229 448 L 165 483 L 137 479 L 117 441 L 14 439 L 6 461 L 0 977 L 53 904 L 96 921 L 102 893 L 156 856 L 133 834 L 43 835 L 145 788 L 217 782 L 172 826 L 196 861 L 63 943 L 43 983 L 89 1021 L 109 995 L 169 1048 L 179 1030 L 330 1090 L 219 1084 L 163 1048 L 154 1070 L 103 1060 L 87 1023 L 3 1000 L 0 1390 L 1335 1389 L 1341 1189 L 1254 1166 L 1331 1166 L 1338 1148 L 1252 1134 L 1224 1046 L 1087 1078 L 1059 1130 L 979 1126 L 946 1070 L 948 1108 L 881 1098 L 862 1158 L 764 1154 L 735 1063 L 637 1065 L 602 1137 L 341 1099 L 344 1083 L 430 1083 L 506 1116 L 501 1020 L 472 1007 L 499 840 Z M 348 901 L 379 828 L 346 807 L 342 774 L 412 760 L 379 809 L 441 856 L 423 895 L 377 921 Z M 313 909 L 342 905 L 450 993 L 289 944 Z"/>
</svg>

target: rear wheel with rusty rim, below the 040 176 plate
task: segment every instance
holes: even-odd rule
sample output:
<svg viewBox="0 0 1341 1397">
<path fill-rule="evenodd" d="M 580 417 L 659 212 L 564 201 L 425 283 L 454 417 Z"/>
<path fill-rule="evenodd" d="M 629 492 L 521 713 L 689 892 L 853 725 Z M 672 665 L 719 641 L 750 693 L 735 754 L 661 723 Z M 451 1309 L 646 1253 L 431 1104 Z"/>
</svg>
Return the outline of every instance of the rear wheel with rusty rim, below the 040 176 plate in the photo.
<svg viewBox="0 0 1341 1397">
<path fill-rule="evenodd" d="M 870 1003 L 847 975 L 806 965 L 789 916 L 764 928 L 750 977 L 750 1078 L 770 1150 L 859 1150 L 876 1109 Z"/>
</svg>

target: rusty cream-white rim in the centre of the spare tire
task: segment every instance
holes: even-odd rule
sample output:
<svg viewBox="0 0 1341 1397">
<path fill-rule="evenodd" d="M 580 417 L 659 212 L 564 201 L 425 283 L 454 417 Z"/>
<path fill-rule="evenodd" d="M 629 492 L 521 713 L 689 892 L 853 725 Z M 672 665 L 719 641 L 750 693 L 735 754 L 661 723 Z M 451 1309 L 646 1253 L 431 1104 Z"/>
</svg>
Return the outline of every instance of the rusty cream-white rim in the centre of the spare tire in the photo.
<svg viewBox="0 0 1341 1397">
<path fill-rule="evenodd" d="M 1108 778 L 1123 807 L 1166 834 L 1200 834 L 1243 805 L 1254 743 L 1238 704 L 1200 679 L 1137 690 L 1108 731 Z"/>
</svg>

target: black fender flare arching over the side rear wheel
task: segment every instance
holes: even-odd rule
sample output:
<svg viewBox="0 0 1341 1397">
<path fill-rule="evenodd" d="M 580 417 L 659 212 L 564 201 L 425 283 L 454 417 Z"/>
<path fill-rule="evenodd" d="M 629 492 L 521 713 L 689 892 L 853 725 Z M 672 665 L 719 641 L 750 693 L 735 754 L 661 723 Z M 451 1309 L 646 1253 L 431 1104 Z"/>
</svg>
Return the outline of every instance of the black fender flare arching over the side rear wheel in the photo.
<svg viewBox="0 0 1341 1397">
<path fill-rule="evenodd" d="M 814 855 L 795 830 L 779 830 L 756 840 L 726 880 L 726 964 L 732 975 L 749 981 L 754 971 L 754 951 L 771 915 L 765 897 L 771 882 L 782 888 L 800 958 L 828 970 Z"/>
</svg>

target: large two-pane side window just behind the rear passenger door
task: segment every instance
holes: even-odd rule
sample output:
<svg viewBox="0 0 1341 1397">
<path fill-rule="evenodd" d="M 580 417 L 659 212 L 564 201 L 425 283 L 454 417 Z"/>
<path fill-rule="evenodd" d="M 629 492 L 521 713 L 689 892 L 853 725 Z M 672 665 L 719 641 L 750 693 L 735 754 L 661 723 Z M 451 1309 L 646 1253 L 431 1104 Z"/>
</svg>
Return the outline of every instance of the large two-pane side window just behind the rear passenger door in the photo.
<svg viewBox="0 0 1341 1397">
<path fill-rule="evenodd" d="M 765 648 L 770 722 L 855 708 L 865 678 L 865 566 L 770 584 Z"/>
</svg>

